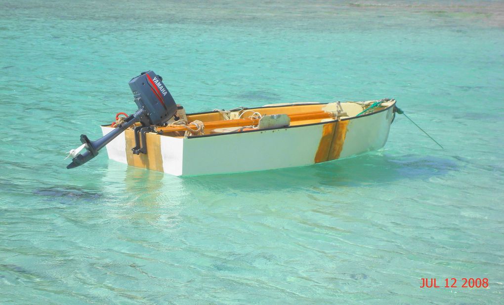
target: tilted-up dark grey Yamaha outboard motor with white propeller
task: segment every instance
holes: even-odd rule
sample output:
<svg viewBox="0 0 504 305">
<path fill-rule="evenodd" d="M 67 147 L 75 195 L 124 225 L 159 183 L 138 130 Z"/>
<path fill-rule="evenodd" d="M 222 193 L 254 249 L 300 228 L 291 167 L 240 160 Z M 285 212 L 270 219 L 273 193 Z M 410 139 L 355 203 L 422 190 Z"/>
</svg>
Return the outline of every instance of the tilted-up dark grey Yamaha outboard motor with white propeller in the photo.
<svg viewBox="0 0 504 305">
<path fill-rule="evenodd" d="M 162 80 L 163 79 L 153 71 L 143 72 L 138 75 L 138 77 L 133 78 L 129 84 L 138 110 L 134 114 L 128 116 L 123 123 L 115 125 L 116 128 L 114 130 L 96 141 L 90 141 L 85 134 L 81 134 L 81 142 L 84 144 L 87 151 L 72 159 L 72 163 L 67 166 L 67 169 L 73 169 L 83 165 L 96 157 L 98 155 L 98 150 L 137 122 L 142 123 L 142 125 L 135 127 L 137 146 L 133 148 L 133 153 L 137 155 L 140 153 L 145 154 L 147 152 L 145 148 L 145 132 L 151 130 L 151 125 L 166 123 L 177 112 L 177 105 L 175 101 L 173 101 L 171 94 L 164 86 Z M 140 145 L 141 143 L 139 141 L 140 132 L 143 134 L 143 147 Z"/>
</svg>

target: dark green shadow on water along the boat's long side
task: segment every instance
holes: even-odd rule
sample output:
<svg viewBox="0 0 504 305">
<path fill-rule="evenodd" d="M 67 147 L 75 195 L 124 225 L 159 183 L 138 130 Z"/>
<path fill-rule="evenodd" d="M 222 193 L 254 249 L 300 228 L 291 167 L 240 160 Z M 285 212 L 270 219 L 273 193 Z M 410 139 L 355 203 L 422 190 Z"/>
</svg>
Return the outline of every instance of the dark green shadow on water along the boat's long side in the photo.
<svg viewBox="0 0 504 305">
<path fill-rule="evenodd" d="M 305 167 L 181 178 L 187 188 L 268 192 L 312 186 L 359 187 L 402 179 L 427 179 L 457 171 L 455 161 L 430 156 L 392 156 L 370 152 Z"/>
</svg>

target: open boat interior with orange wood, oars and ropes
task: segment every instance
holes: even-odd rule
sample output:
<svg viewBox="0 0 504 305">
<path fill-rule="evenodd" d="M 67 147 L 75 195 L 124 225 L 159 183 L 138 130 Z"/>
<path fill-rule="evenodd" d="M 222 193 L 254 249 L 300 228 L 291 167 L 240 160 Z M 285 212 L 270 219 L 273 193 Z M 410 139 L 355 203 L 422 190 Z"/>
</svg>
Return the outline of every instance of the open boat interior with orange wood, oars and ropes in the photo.
<svg viewBox="0 0 504 305">
<path fill-rule="evenodd" d="M 370 114 L 394 103 L 393 99 L 325 104 L 304 102 L 231 110 L 215 109 L 212 112 L 194 114 L 185 114 L 183 107 L 179 106 L 176 116 L 163 126 L 156 126 L 155 132 L 165 136 L 187 137 L 300 126 Z"/>
</svg>

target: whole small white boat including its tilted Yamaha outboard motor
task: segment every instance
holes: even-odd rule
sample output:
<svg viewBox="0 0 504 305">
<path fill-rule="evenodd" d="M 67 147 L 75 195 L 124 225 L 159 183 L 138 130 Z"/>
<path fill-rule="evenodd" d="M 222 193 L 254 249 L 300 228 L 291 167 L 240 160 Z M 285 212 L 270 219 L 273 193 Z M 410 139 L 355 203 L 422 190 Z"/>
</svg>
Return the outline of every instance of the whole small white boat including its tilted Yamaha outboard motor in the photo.
<svg viewBox="0 0 504 305">
<path fill-rule="evenodd" d="M 152 80 L 149 73 L 152 74 L 152 84 L 161 89 L 160 93 L 167 92 L 160 81 L 161 85 L 156 82 L 156 76 L 161 79 L 159 75 L 152 71 L 144 73 L 147 81 Z M 74 158 L 68 168 L 89 161 L 105 145 L 111 160 L 175 176 L 307 166 L 383 147 L 398 110 L 394 99 L 383 99 L 274 104 L 185 114 L 171 96 L 167 99 L 155 94 L 158 99 L 164 98 L 159 101 L 169 115 L 153 119 L 154 111 L 143 110 L 146 105 L 142 103 L 147 98 L 142 102 L 139 97 L 142 88 L 136 89 L 134 81 L 140 81 L 130 82 L 139 111 L 125 120 L 118 115 L 116 122 L 102 125 L 104 137 L 97 141 L 89 141 L 82 135 L 82 146 L 88 151 Z M 142 81 L 142 85 L 147 81 Z M 147 92 L 151 94 L 145 90 L 145 96 Z M 159 106 L 157 102 L 152 104 Z M 169 110 L 170 107 L 176 108 Z M 160 124 L 152 124 L 153 120 Z"/>
</svg>

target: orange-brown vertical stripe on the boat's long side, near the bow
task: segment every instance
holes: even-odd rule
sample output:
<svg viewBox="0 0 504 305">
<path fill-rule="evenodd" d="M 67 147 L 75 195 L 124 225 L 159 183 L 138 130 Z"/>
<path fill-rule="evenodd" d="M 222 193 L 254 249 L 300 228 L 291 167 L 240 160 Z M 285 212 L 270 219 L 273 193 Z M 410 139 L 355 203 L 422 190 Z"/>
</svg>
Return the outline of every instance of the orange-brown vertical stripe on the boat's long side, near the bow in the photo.
<svg viewBox="0 0 504 305">
<path fill-rule="evenodd" d="M 348 122 L 349 120 L 324 125 L 319 148 L 315 154 L 315 163 L 335 160 L 340 157 Z"/>
</svg>

